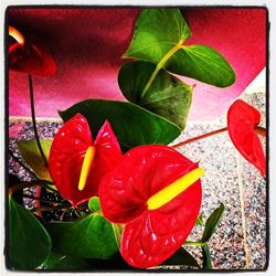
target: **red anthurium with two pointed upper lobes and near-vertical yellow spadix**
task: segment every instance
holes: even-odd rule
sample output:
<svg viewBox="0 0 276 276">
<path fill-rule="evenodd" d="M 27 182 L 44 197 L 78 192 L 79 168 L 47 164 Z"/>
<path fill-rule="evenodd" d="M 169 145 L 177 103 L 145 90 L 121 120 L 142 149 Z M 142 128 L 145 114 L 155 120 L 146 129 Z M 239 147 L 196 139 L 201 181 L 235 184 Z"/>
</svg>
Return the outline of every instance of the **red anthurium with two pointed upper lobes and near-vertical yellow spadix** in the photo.
<svg viewBox="0 0 276 276">
<path fill-rule="evenodd" d="M 56 134 L 49 156 L 51 177 L 73 205 L 98 193 L 99 182 L 121 158 L 109 123 L 103 125 L 93 141 L 89 125 L 81 114 L 66 121 Z"/>
</svg>

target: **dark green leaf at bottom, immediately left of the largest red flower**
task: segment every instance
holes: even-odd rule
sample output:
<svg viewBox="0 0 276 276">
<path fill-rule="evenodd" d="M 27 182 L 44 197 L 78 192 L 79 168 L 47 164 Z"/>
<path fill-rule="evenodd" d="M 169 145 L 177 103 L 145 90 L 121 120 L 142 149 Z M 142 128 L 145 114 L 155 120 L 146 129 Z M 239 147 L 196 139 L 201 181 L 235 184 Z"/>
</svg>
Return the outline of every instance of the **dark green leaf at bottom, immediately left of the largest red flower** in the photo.
<svg viewBox="0 0 276 276">
<path fill-rule="evenodd" d="M 99 213 L 74 222 L 45 225 L 52 237 L 53 252 L 84 258 L 110 258 L 117 251 L 113 226 Z"/>
</svg>

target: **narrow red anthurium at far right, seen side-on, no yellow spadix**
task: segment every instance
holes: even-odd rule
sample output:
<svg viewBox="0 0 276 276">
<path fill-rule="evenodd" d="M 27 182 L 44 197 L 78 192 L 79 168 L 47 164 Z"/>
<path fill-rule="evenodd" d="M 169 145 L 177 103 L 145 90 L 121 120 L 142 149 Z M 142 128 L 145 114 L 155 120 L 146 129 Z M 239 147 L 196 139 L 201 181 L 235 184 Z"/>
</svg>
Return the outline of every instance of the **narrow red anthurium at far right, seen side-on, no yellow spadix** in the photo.
<svg viewBox="0 0 276 276">
<path fill-rule="evenodd" d="M 227 128 L 231 140 L 248 162 L 266 174 L 265 153 L 257 136 L 259 121 L 259 112 L 242 99 L 237 99 L 229 108 Z"/>
</svg>

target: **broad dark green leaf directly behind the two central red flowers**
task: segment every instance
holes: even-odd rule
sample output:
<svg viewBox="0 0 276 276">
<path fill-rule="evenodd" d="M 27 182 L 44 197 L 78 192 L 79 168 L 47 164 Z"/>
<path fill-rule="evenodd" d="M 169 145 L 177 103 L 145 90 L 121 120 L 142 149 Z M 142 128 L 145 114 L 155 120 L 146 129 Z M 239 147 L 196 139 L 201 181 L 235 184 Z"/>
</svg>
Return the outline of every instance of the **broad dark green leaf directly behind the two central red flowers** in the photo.
<svg viewBox="0 0 276 276">
<path fill-rule="evenodd" d="M 66 121 L 77 113 L 88 120 L 93 137 L 107 119 L 124 151 L 138 145 L 167 145 L 181 132 L 174 124 L 130 103 L 87 99 L 60 115 Z"/>
</svg>

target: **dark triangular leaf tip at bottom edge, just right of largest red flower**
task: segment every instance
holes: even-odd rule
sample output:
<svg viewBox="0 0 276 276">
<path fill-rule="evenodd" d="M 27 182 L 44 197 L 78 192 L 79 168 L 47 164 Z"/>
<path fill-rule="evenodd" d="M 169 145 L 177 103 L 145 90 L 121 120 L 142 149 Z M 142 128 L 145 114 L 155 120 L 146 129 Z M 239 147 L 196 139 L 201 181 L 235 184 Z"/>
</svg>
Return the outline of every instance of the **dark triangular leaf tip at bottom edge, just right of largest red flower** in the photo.
<svg viewBox="0 0 276 276">
<path fill-rule="evenodd" d="M 197 259 L 183 247 L 180 247 L 170 258 L 162 263 L 162 265 L 183 265 L 200 268 Z"/>
</svg>

